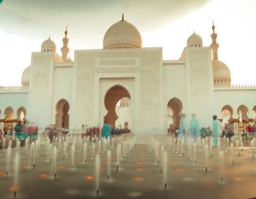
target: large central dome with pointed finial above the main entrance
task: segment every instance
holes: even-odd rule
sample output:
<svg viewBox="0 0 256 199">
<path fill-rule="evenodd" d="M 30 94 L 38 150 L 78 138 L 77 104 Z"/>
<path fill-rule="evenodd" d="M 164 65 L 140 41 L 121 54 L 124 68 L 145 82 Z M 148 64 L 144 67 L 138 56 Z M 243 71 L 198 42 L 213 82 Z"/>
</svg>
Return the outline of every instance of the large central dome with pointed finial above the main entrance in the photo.
<svg viewBox="0 0 256 199">
<path fill-rule="evenodd" d="M 140 32 L 132 23 L 124 20 L 124 15 L 120 21 L 108 28 L 103 40 L 104 49 L 135 48 L 141 46 Z"/>
</svg>

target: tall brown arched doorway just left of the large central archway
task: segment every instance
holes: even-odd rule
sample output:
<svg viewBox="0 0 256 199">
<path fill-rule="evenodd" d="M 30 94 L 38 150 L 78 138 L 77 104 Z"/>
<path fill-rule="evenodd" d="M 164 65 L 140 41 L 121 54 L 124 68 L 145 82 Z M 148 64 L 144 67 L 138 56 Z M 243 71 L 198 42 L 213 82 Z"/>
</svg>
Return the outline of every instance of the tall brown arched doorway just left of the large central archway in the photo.
<svg viewBox="0 0 256 199">
<path fill-rule="evenodd" d="M 69 102 L 66 99 L 61 99 L 56 104 L 55 125 L 59 128 L 69 128 Z"/>
</svg>

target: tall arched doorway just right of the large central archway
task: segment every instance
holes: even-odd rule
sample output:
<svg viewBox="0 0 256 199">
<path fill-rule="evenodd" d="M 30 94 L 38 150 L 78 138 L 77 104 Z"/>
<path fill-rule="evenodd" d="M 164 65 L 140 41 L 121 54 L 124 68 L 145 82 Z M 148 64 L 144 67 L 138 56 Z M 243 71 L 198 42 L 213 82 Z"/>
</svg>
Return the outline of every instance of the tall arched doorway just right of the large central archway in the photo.
<svg viewBox="0 0 256 199">
<path fill-rule="evenodd" d="M 167 104 L 167 123 L 168 128 L 170 124 L 178 127 L 181 120 L 181 111 L 183 105 L 180 99 L 171 98 Z"/>
</svg>

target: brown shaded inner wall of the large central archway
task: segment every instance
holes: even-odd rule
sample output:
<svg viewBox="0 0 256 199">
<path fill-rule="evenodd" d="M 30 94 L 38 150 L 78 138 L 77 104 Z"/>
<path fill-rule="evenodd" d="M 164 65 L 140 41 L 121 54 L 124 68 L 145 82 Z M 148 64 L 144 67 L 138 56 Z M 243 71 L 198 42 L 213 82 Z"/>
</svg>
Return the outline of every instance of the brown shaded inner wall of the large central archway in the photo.
<svg viewBox="0 0 256 199">
<path fill-rule="evenodd" d="M 116 104 L 118 104 L 118 101 L 122 98 L 131 99 L 131 96 L 129 91 L 121 85 L 110 87 L 105 95 L 105 107 L 108 113 L 105 115 L 104 120 L 111 125 L 111 128 L 116 128 L 116 120 L 118 119 Z"/>
</svg>

